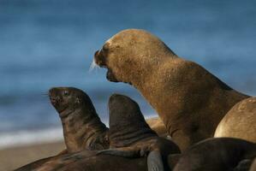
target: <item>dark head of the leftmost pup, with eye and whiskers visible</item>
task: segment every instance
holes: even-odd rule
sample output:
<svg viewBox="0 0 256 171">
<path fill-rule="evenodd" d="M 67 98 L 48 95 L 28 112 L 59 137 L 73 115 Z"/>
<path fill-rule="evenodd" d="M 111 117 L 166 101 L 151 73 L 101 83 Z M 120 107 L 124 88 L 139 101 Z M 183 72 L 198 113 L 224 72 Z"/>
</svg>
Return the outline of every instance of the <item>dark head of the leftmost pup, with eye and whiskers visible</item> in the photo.
<svg viewBox="0 0 256 171">
<path fill-rule="evenodd" d="M 62 115 L 67 115 L 75 109 L 83 107 L 90 113 L 95 111 L 92 101 L 84 91 L 74 87 L 54 87 L 49 91 L 51 104 Z M 85 111 L 86 112 L 86 111 Z"/>
</svg>

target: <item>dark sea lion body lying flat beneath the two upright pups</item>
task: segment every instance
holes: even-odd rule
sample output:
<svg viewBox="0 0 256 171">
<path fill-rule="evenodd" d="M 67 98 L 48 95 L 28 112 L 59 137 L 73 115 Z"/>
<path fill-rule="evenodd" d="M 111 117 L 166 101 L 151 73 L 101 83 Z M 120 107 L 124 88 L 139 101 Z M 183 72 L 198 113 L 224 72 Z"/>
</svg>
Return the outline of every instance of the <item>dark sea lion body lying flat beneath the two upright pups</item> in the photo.
<svg viewBox="0 0 256 171">
<path fill-rule="evenodd" d="M 121 156 L 97 155 L 97 150 L 83 150 L 54 156 L 37 168 L 28 165 L 15 171 L 146 171 L 146 157 L 126 158 Z M 45 160 L 45 159 L 42 159 Z M 39 160 L 38 162 L 41 162 Z M 34 162 L 35 163 L 35 162 Z"/>
</svg>

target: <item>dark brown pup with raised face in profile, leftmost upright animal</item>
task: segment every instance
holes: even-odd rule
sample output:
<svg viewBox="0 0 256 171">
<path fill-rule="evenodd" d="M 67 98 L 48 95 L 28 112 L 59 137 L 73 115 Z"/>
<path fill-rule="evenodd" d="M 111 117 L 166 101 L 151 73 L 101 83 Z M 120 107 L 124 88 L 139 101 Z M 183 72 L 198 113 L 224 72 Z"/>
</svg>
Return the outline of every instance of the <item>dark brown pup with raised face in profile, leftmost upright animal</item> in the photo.
<svg viewBox="0 0 256 171">
<path fill-rule="evenodd" d="M 84 91 L 74 87 L 56 87 L 51 88 L 49 97 L 62 120 L 68 152 L 109 148 L 108 128 L 100 121 Z"/>
</svg>

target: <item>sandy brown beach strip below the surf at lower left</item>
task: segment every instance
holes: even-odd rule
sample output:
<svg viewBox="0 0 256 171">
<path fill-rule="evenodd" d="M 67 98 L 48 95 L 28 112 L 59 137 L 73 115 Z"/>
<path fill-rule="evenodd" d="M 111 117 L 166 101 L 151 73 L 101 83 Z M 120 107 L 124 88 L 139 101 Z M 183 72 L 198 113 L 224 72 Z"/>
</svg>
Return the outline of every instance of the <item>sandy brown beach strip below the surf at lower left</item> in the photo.
<svg viewBox="0 0 256 171">
<path fill-rule="evenodd" d="M 29 162 L 55 156 L 64 149 L 61 141 L 47 144 L 30 144 L 0 150 L 0 171 L 14 170 Z"/>
</svg>

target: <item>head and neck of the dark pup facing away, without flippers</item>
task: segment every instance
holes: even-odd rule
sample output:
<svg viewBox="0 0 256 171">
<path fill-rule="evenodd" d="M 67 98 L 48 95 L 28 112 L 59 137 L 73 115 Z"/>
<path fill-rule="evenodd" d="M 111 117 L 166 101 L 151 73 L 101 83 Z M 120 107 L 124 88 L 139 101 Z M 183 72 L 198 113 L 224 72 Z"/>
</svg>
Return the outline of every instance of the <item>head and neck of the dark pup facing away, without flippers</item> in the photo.
<svg viewBox="0 0 256 171">
<path fill-rule="evenodd" d="M 109 102 L 111 147 L 123 147 L 136 143 L 140 139 L 149 139 L 157 133 L 146 124 L 140 107 L 131 98 L 112 95 Z"/>
</svg>

